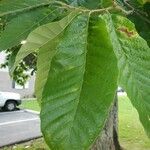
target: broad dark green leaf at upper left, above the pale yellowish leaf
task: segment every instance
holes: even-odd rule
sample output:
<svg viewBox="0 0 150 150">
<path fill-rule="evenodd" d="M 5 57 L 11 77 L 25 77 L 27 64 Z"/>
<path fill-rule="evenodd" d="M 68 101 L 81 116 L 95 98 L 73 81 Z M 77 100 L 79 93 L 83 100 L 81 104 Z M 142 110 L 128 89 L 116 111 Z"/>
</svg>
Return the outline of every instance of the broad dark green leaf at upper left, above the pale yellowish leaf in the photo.
<svg viewBox="0 0 150 150">
<path fill-rule="evenodd" d="M 57 13 L 57 15 L 56 15 Z M 59 16 L 57 9 L 35 9 L 10 20 L 0 35 L 0 51 L 19 45 L 38 26 L 51 22 Z"/>
</svg>

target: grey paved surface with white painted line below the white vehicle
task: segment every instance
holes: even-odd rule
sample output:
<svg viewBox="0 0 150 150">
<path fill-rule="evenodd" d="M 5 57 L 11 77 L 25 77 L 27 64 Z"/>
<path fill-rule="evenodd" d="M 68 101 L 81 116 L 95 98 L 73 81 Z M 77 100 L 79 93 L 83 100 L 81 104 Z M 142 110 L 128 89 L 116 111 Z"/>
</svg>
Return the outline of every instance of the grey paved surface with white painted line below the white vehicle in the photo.
<svg viewBox="0 0 150 150">
<path fill-rule="evenodd" d="M 0 147 L 41 136 L 39 116 L 24 110 L 0 112 Z"/>
</svg>

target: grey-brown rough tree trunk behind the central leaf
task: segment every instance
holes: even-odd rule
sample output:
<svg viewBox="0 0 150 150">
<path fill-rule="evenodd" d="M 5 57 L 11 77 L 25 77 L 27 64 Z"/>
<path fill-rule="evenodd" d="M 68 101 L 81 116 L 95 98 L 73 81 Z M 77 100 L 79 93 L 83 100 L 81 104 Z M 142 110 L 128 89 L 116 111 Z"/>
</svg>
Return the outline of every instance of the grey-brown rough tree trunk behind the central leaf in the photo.
<svg viewBox="0 0 150 150">
<path fill-rule="evenodd" d="M 118 98 L 109 113 L 106 125 L 91 150 L 121 150 L 118 141 Z"/>
</svg>

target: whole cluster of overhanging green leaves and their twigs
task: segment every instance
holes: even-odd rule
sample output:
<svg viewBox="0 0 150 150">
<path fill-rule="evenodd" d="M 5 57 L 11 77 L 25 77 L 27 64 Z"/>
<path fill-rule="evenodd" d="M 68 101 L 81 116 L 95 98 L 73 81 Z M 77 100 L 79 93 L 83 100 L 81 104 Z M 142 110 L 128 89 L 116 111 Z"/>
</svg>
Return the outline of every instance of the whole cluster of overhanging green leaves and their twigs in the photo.
<svg viewBox="0 0 150 150">
<path fill-rule="evenodd" d="M 10 53 L 5 65 L 14 77 L 18 66 L 21 74 L 37 70 L 41 128 L 51 149 L 91 148 L 117 86 L 127 92 L 150 137 L 148 1 L 24 0 L 17 10 L 5 2 L 0 1 L 0 49 Z"/>
</svg>

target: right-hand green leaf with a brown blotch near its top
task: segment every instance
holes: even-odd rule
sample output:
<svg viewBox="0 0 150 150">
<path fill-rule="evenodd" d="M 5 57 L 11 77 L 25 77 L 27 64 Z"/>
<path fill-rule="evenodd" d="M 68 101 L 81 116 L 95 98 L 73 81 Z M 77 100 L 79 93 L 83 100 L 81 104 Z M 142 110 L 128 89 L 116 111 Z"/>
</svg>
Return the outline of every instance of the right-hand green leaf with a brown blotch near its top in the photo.
<svg viewBox="0 0 150 150">
<path fill-rule="evenodd" d="M 150 48 L 125 17 L 104 15 L 103 18 L 118 58 L 119 84 L 150 136 Z"/>
</svg>

